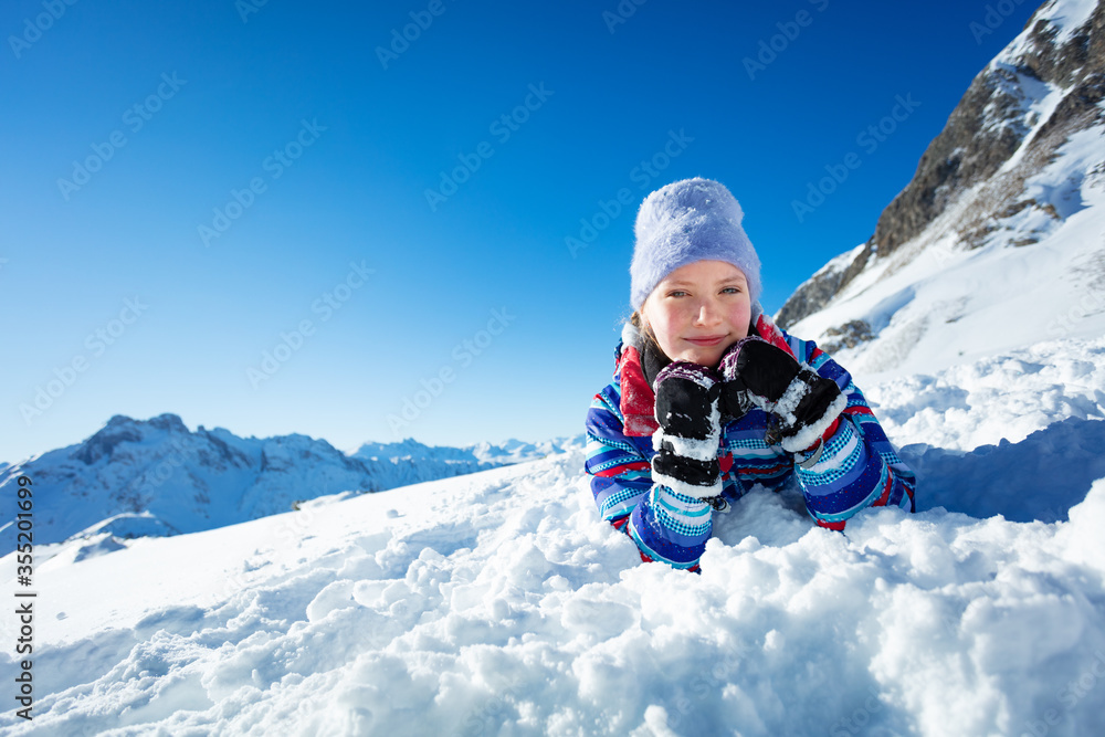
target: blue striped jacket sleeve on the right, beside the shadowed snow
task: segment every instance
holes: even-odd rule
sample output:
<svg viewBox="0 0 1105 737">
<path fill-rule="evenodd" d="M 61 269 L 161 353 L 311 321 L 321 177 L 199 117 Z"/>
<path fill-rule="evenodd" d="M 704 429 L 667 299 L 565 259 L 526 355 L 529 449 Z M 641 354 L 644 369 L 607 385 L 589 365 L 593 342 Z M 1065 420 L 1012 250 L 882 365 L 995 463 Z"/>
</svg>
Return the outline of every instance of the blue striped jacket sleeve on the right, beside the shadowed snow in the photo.
<svg viewBox="0 0 1105 737">
<path fill-rule="evenodd" d="M 815 344 L 786 336 L 791 350 L 819 375 L 832 379 L 848 398 L 835 432 L 809 467 L 796 463 L 806 505 L 818 525 L 844 529 L 855 513 L 871 506 L 915 510 L 916 476 L 898 457 L 851 375 Z"/>
</svg>

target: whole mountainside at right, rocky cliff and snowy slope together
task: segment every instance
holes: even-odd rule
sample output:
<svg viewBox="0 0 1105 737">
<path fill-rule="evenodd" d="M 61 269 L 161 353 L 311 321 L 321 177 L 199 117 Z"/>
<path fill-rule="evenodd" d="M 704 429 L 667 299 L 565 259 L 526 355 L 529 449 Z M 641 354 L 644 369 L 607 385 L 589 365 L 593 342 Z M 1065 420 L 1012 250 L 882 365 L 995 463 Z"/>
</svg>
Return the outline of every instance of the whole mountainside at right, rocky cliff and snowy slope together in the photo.
<svg viewBox="0 0 1105 737">
<path fill-rule="evenodd" d="M 780 323 L 865 376 L 1105 334 L 1103 99 L 1105 3 L 1044 3 Z"/>
</svg>

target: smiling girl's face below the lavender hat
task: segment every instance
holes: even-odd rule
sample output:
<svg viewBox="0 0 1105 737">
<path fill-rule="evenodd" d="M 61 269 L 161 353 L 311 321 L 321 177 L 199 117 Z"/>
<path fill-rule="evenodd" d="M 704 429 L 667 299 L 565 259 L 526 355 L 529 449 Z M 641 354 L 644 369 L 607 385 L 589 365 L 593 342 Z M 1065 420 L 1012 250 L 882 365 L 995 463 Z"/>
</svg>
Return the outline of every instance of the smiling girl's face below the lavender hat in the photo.
<svg viewBox="0 0 1105 737">
<path fill-rule="evenodd" d="M 748 337 L 748 281 L 724 261 L 680 266 L 644 301 L 641 317 L 669 358 L 716 368 L 729 346 Z"/>
</svg>

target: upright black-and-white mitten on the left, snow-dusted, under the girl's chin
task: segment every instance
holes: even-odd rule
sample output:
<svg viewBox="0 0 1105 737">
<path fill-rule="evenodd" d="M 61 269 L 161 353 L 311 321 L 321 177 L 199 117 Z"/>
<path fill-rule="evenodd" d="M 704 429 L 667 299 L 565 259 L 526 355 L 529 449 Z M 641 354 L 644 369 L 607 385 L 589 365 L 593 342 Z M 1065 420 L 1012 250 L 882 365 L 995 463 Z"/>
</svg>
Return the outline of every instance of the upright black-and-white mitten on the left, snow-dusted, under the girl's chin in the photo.
<svg viewBox="0 0 1105 737">
<path fill-rule="evenodd" d="M 652 435 L 653 480 L 686 496 L 718 496 L 720 377 L 698 364 L 672 361 L 656 375 L 655 386 L 660 428 Z"/>
</svg>

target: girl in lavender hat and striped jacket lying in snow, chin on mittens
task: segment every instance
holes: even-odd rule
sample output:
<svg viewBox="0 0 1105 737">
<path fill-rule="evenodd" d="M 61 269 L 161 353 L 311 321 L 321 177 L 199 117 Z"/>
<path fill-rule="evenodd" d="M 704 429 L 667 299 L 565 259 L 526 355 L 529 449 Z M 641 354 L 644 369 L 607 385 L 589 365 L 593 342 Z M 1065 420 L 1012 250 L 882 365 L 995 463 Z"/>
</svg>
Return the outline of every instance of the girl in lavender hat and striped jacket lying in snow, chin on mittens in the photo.
<svg viewBox="0 0 1105 737">
<path fill-rule="evenodd" d="M 714 510 L 798 476 L 810 515 L 843 530 L 869 506 L 915 509 L 913 472 L 852 378 L 764 314 L 760 262 L 724 186 L 685 179 L 645 198 L 633 315 L 587 413 L 602 517 L 643 560 L 698 570 Z"/>
</svg>

